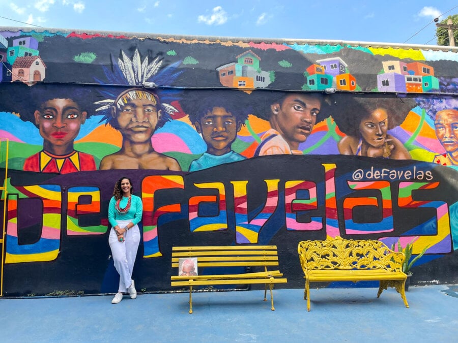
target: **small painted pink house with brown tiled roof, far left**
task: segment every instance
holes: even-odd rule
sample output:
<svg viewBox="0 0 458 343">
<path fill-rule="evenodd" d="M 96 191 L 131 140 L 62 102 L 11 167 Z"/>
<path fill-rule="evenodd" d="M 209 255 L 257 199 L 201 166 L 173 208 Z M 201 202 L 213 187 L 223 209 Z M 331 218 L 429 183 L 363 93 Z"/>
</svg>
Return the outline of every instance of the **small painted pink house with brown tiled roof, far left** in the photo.
<svg viewBox="0 0 458 343">
<path fill-rule="evenodd" d="M 12 81 L 22 81 L 30 84 L 43 81 L 46 77 L 46 65 L 40 56 L 17 57 L 11 68 Z"/>
</svg>

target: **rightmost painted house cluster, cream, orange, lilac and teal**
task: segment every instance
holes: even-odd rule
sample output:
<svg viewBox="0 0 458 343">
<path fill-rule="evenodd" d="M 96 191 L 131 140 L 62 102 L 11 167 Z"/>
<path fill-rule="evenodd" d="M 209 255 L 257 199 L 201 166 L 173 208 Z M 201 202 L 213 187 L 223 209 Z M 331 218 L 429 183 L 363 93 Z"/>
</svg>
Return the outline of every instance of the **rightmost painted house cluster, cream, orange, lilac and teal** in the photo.
<svg viewBox="0 0 458 343">
<path fill-rule="evenodd" d="M 439 89 L 434 68 L 424 63 L 390 60 L 382 62 L 382 65 L 383 74 L 377 75 L 380 91 L 428 92 Z"/>
</svg>

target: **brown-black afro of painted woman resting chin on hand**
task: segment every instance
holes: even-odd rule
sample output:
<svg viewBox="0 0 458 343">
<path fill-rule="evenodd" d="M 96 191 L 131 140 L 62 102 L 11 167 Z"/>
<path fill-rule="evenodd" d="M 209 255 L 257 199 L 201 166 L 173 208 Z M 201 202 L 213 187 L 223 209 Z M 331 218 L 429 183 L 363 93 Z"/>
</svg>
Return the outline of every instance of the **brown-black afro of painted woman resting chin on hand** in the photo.
<svg viewBox="0 0 458 343">
<path fill-rule="evenodd" d="M 339 130 L 348 136 L 359 137 L 361 120 L 378 108 L 388 113 L 388 130 L 403 123 L 407 114 L 416 107 L 411 98 L 386 98 L 387 96 L 355 97 L 341 94 L 334 96 L 334 114 L 332 115 Z"/>
</svg>

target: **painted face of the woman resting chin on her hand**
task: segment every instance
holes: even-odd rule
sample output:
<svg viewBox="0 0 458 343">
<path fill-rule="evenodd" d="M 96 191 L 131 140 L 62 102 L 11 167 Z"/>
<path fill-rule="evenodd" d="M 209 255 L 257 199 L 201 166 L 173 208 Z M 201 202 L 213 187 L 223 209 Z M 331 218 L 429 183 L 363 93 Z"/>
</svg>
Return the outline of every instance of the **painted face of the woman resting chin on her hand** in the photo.
<svg viewBox="0 0 458 343">
<path fill-rule="evenodd" d="M 388 131 L 388 113 L 383 108 L 378 108 L 367 117 L 361 119 L 359 132 L 367 144 L 376 148 L 385 144 Z"/>
</svg>

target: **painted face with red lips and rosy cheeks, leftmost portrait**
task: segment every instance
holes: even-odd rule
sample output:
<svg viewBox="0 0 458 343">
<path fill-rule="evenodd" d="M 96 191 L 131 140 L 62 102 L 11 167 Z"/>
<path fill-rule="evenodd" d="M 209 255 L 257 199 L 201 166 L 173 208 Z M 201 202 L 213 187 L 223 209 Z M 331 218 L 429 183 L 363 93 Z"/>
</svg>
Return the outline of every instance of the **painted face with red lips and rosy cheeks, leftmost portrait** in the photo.
<svg viewBox="0 0 458 343">
<path fill-rule="evenodd" d="M 71 146 L 73 150 L 73 141 L 78 136 L 87 114 L 71 99 L 52 99 L 43 103 L 34 116 L 45 148 L 53 150 L 55 147 Z"/>
</svg>

